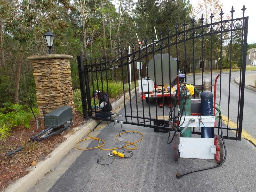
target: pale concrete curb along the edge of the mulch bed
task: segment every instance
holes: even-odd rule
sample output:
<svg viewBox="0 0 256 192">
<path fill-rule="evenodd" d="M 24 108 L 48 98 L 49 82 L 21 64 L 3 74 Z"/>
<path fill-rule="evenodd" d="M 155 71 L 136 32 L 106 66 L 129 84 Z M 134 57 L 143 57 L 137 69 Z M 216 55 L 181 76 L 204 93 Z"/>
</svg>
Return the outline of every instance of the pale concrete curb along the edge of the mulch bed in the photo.
<svg viewBox="0 0 256 192">
<path fill-rule="evenodd" d="M 137 87 L 138 89 L 138 87 Z M 135 95 L 135 89 L 131 91 L 131 97 Z M 125 94 L 125 97 L 129 97 L 129 92 Z M 117 108 L 124 101 L 124 97 L 120 97 L 118 100 L 113 102 L 113 108 Z M 125 100 L 125 103 L 129 100 Z M 116 109 L 118 112 L 122 107 Z M 61 159 L 68 154 L 68 152 L 76 146 L 76 143 L 83 139 L 89 130 L 92 130 L 100 120 L 90 119 L 86 124 L 82 125 L 80 129 L 67 138 L 63 143 L 61 143 L 57 148 L 55 148 L 52 153 L 49 154 L 49 158 L 44 161 L 40 161 L 34 169 L 29 172 L 24 177 L 15 181 L 15 183 L 10 184 L 4 192 L 20 192 L 28 191 L 32 188 L 51 168 L 56 165 Z"/>
</svg>

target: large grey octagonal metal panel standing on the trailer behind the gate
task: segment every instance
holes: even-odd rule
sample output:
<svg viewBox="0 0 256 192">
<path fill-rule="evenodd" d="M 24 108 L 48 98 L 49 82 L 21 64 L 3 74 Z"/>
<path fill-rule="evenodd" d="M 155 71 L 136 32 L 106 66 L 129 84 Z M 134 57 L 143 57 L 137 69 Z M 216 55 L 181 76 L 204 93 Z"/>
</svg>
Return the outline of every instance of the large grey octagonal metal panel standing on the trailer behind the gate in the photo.
<svg viewBox="0 0 256 192">
<path fill-rule="evenodd" d="M 155 56 L 155 69 L 156 69 L 156 79 L 154 74 L 154 58 L 148 63 L 148 78 L 150 77 L 155 84 L 162 85 L 162 70 L 161 70 L 161 54 L 156 54 Z M 170 75 L 171 83 L 177 77 L 177 61 L 175 61 L 171 55 L 168 53 L 162 54 L 163 63 L 163 85 L 169 85 L 169 58 L 170 58 Z M 143 88 L 144 90 L 144 88 Z"/>
</svg>

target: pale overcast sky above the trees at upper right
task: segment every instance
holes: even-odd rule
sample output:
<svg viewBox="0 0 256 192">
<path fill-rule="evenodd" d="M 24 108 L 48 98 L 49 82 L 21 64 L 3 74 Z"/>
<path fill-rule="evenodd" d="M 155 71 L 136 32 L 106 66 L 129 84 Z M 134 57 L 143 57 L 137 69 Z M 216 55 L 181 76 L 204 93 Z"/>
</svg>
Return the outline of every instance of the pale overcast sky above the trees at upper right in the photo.
<svg viewBox="0 0 256 192">
<path fill-rule="evenodd" d="M 193 6 L 197 5 L 199 0 L 190 0 Z M 245 14 L 244 16 L 249 16 L 248 23 L 248 39 L 247 42 L 250 44 L 252 42 L 256 43 L 256 1 L 255 0 L 221 0 L 223 3 L 223 12 L 225 14 L 229 13 L 232 6 L 234 7 L 234 18 L 242 17 L 243 5 L 245 5 Z"/>
</svg>

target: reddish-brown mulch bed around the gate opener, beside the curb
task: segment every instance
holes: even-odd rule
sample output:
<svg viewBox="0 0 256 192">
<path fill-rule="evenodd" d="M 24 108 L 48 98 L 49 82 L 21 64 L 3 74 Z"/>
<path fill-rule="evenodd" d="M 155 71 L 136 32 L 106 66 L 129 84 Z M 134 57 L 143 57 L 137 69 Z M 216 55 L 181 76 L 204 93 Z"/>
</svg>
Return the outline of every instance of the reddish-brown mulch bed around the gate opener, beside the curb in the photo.
<svg viewBox="0 0 256 192">
<path fill-rule="evenodd" d="M 86 120 L 83 119 L 83 114 L 80 112 L 75 111 L 73 116 L 73 125 L 71 126 L 71 129 L 86 123 Z M 0 191 L 18 178 L 28 174 L 28 168 L 31 166 L 32 162 L 37 163 L 46 159 L 48 154 L 58 147 L 60 143 L 66 140 L 63 137 L 65 134 L 53 135 L 41 142 L 33 142 L 28 146 L 25 143 L 29 140 L 29 137 L 36 135 L 45 129 L 43 121 L 39 129 L 36 128 L 35 120 L 31 120 L 30 126 L 31 128 L 28 130 L 24 128 L 24 126 L 13 127 L 10 137 L 0 141 Z M 9 157 L 4 155 L 22 145 L 26 147 L 26 149 Z"/>
</svg>

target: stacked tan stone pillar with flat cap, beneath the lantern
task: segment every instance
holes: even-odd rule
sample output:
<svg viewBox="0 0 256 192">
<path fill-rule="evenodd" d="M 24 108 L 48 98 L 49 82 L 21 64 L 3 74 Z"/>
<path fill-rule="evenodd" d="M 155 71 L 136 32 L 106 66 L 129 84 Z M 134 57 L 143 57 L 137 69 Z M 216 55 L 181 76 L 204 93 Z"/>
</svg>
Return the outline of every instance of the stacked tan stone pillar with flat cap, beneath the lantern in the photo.
<svg viewBox="0 0 256 192">
<path fill-rule="evenodd" d="M 71 106 L 74 98 L 71 81 L 71 55 L 49 54 L 28 57 L 34 69 L 36 98 L 40 116 L 60 106 Z"/>
</svg>

